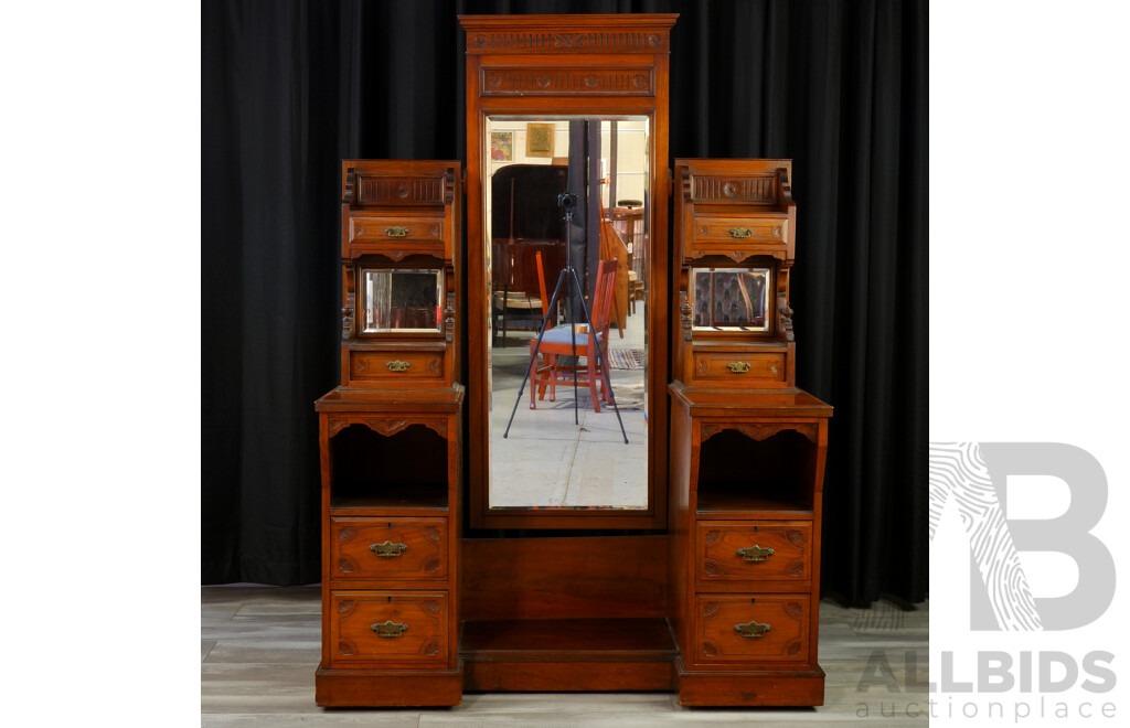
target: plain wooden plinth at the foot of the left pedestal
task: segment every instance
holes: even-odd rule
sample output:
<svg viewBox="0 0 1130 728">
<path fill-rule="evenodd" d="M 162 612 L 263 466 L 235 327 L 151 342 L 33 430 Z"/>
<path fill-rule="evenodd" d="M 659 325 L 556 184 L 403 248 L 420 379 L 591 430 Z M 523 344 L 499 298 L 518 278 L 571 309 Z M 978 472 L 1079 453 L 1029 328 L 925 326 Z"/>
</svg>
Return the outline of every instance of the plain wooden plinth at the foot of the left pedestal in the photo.
<svg viewBox="0 0 1130 728">
<path fill-rule="evenodd" d="M 325 669 L 314 674 L 314 702 L 323 708 L 458 705 L 463 666 L 453 670 Z"/>
</svg>

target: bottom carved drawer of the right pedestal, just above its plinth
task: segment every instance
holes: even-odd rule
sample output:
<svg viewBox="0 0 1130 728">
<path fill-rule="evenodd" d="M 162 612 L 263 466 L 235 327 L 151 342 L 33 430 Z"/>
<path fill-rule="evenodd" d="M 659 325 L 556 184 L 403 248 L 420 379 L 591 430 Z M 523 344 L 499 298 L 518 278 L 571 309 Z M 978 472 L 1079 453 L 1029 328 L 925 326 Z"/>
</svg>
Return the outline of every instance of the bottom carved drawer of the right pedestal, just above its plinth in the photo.
<svg viewBox="0 0 1130 728">
<path fill-rule="evenodd" d="M 807 661 L 809 602 L 807 594 L 698 595 L 695 661 Z"/>
</svg>

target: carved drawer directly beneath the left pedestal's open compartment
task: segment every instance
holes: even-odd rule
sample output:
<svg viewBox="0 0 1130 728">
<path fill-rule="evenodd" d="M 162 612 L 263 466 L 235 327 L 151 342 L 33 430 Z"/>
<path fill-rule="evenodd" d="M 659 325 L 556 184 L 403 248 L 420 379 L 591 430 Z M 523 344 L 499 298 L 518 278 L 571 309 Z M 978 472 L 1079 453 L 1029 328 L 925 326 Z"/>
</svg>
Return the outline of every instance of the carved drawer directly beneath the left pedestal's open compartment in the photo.
<svg viewBox="0 0 1130 728">
<path fill-rule="evenodd" d="M 446 579 L 447 519 L 331 518 L 333 579 Z"/>
</svg>

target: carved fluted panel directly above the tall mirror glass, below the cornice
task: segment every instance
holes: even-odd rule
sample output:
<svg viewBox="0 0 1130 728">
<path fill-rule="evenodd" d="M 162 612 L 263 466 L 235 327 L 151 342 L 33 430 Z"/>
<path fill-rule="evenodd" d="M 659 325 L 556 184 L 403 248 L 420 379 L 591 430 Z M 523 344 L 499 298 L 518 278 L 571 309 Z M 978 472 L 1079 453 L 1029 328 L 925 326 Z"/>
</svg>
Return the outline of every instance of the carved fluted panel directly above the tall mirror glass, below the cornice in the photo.
<svg viewBox="0 0 1130 728">
<path fill-rule="evenodd" d="M 653 96 L 652 69 L 623 65 L 510 68 L 487 65 L 479 69 L 483 96 L 533 96 L 539 94 L 584 94 Z"/>
</svg>

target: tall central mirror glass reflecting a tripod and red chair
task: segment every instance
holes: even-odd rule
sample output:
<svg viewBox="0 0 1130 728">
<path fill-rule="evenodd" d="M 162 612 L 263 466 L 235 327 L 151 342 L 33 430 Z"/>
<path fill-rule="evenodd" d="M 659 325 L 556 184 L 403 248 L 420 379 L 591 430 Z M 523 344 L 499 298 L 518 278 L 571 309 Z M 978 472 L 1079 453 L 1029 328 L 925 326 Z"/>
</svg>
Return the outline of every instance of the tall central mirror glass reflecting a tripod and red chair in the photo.
<svg viewBox="0 0 1130 728">
<path fill-rule="evenodd" d="M 644 509 L 649 120 L 486 132 L 489 505 Z"/>
</svg>

